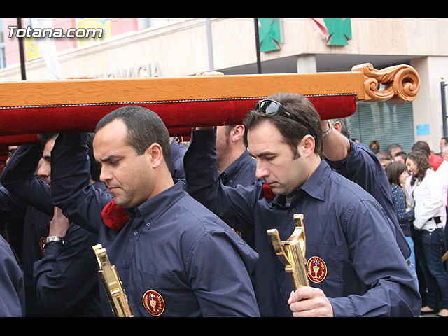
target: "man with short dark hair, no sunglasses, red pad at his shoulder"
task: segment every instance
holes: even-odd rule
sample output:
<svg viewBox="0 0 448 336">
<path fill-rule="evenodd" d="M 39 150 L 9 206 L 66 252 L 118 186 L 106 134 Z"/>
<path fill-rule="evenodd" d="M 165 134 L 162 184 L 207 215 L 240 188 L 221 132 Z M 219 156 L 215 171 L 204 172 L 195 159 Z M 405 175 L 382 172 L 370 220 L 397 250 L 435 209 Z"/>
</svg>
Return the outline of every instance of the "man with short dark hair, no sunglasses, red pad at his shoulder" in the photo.
<svg viewBox="0 0 448 336">
<path fill-rule="evenodd" d="M 99 121 L 94 156 L 113 199 L 85 179 L 84 143 L 85 134 L 59 135 L 52 200 L 98 232 L 134 316 L 259 316 L 249 276 L 257 253 L 173 180 L 168 130 L 156 113 L 125 106 Z"/>
</svg>

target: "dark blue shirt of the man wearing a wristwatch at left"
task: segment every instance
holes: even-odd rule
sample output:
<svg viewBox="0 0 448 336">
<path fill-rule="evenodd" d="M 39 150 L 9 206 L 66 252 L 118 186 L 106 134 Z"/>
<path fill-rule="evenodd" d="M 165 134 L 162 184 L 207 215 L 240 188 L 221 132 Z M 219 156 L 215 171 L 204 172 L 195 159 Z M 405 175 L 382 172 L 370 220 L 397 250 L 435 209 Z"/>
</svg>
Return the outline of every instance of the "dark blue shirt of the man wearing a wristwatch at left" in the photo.
<svg viewBox="0 0 448 336">
<path fill-rule="evenodd" d="M 27 203 L 22 209 L 27 316 L 99 316 L 97 260 L 90 250 L 97 236 L 71 223 L 64 245 L 41 250 L 54 212 L 50 188 L 34 177 L 41 154 L 38 145 L 20 146 L 1 175 L 11 197 Z"/>
</svg>

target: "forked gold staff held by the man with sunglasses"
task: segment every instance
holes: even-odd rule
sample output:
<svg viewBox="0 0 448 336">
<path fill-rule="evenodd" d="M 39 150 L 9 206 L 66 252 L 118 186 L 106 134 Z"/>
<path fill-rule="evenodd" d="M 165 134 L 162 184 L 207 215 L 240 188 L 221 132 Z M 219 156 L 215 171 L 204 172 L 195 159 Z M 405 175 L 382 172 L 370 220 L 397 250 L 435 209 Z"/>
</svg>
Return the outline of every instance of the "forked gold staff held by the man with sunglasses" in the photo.
<svg viewBox="0 0 448 336">
<path fill-rule="evenodd" d="M 303 214 L 294 215 L 295 230 L 288 240 L 281 241 L 276 229 L 267 230 L 267 235 L 272 239 L 272 245 L 276 255 L 285 265 L 285 271 L 290 273 L 294 290 L 300 286 L 309 286 L 307 276 L 307 260 L 305 259 L 305 229 Z"/>
</svg>

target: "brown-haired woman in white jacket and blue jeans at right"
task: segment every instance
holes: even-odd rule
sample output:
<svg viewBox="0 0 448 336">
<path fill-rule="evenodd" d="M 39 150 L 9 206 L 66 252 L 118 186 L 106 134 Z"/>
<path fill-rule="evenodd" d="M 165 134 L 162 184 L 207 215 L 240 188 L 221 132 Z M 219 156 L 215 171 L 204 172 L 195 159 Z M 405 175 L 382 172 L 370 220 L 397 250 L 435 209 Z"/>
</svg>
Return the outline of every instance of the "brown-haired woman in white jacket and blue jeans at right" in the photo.
<svg viewBox="0 0 448 336">
<path fill-rule="evenodd" d="M 414 197 L 415 253 L 425 274 L 428 290 L 428 304 L 421 308 L 421 314 L 448 317 L 448 273 L 442 264 L 444 244 L 444 223 L 446 213 L 442 184 L 428 155 L 411 151 L 406 156 L 406 166 L 412 173 L 411 186 Z M 442 302 L 442 309 L 440 309 Z"/>
</svg>

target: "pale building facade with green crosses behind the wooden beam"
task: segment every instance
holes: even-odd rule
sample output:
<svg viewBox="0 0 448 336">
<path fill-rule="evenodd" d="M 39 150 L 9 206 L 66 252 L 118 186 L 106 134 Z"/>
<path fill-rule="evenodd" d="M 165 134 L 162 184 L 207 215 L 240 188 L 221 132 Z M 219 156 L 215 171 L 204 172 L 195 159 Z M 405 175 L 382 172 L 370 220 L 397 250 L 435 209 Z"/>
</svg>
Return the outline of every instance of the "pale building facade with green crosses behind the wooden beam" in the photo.
<svg viewBox="0 0 448 336">
<path fill-rule="evenodd" d="M 22 79 L 18 37 L 23 35 L 26 80 L 55 80 L 37 48 L 43 36 L 26 36 L 31 33 L 25 27 L 36 29 L 36 22 L 22 19 L 19 31 L 17 19 L 1 20 L 0 80 Z M 375 69 L 409 64 L 421 80 L 417 98 L 399 105 L 359 102 L 350 117 L 352 137 L 365 144 L 378 140 L 385 151 L 395 142 L 410 151 L 423 140 L 439 153 L 440 137 L 448 135 L 441 100 L 448 74 L 448 19 L 55 18 L 50 24 L 53 34 L 57 29 L 79 33 L 79 38 L 51 38 L 62 78 L 193 76 L 210 70 L 314 73 L 351 71 L 363 63 Z M 89 38 L 81 34 L 87 28 L 104 34 Z"/>
</svg>

